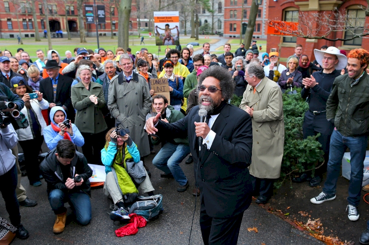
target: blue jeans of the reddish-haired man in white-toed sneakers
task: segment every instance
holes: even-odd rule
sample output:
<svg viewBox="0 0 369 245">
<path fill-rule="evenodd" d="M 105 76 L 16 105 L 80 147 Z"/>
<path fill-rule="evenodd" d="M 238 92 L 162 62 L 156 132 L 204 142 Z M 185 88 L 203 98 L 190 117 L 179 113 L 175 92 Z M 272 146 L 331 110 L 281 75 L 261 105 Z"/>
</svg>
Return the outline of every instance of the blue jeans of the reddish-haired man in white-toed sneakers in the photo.
<svg viewBox="0 0 369 245">
<path fill-rule="evenodd" d="M 348 204 L 358 207 L 360 203 L 361 185 L 364 176 L 364 159 L 368 144 L 368 136 L 346 137 L 338 130 L 334 130 L 331 136 L 329 149 L 329 161 L 327 166 L 327 180 L 324 183 L 323 192 L 328 195 L 336 193 L 336 184 L 340 172 L 343 153 L 347 147 L 351 155 L 351 178 L 348 187 Z"/>
</svg>

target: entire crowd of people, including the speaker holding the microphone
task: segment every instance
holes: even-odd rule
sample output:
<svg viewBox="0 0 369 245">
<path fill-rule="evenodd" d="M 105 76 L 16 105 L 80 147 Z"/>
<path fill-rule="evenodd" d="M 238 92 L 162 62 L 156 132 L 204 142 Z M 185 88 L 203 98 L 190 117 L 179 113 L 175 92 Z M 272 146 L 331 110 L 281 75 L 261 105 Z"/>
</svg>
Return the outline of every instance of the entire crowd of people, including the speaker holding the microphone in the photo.
<svg viewBox="0 0 369 245">
<path fill-rule="evenodd" d="M 265 204 L 273 195 L 283 157 L 282 93 L 297 87 L 309 105 L 304 138 L 320 134 L 317 140 L 325 164 L 314 176 L 305 172 L 293 181 L 309 181 L 315 187 L 327 172 L 323 191 L 310 201 L 334 200 L 339 164 L 350 148 L 346 211 L 350 220 L 357 220 L 368 142 L 369 53 L 355 49 L 346 55 L 323 46 L 314 50 L 316 60 L 310 62 L 303 47 L 296 45 L 286 67 L 279 62 L 278 52 L 259 56 L 256 41 L 248 50 L 241 44 L 231 53 L 229 43 L 223 50 L 218 56 L 210 54 L 209 43 L 203 44 L 201 54 L 194 54 L 192 45 L 167 48 L 159 60 L 146 48 L 132 54 L 130 48 L 113 52 L 79 47 L 74 57 L 66 51 L 64 59 L 57 50 L 49 50 L 46 56 L 37 50 L 34 62 L 22 49 L 14 56 L 4 50 L 0 94 L 15 106 L 2 112 L 12 118 L 17 110 L 28 121 L 20 125 L 4 120 L 0 126 L 4 149 L 0 182 L 12 184 L 0 191 L 17 236 L 29 237 L 21 224 L 19 205 L 37 205 L 20 184 L 18 141 L 30 185 L 42 185 L 42 178 L 47 183 L 56 215 L 55 233 L 65 227 L 65 202 L 70 202 L 78 223 L 86 225 L 92 218 L 88 163 L 105 166 L 103 192 L 113 200 L 113 220 L 127 214 L 139 191 L 154 195 L 145 157 L 156 154 L 154 145 L 161 143 L 153 165 L 162 171 L 161 178 L 178 183 L 177 191 L 189 187 L 180 163 L 188 155 L 185 163 L 197 163 L 192 194 L 201 194 L 204 243 L 237 241 L 251 196 Z M 154 93 L 150 80 L 156 78 L 168 80 L 170 98 Z M 230 105 L 233 95 L 242 97 L 240 109 Z M 208 114 L 205 122 L 199 121 L 199 109 Z M 43 141 L 50 151 L 39 164 Z M 135 164 L 137 168 L 132 167 Z M 217 235 L 225 227 L 228 231 Z M 369 242 L 369 221 L 361 238 L 365 241 Z"/>
</svg>

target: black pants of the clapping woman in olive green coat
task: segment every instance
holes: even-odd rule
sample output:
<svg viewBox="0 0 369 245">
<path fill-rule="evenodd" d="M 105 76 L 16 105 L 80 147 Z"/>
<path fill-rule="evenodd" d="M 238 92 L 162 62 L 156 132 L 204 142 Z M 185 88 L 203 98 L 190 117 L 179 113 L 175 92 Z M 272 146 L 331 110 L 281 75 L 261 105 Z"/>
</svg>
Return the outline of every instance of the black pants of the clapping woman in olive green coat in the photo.
<svg viewBox="0 0 369 245">
<path fill-rule="evenodd" d="M 88 163 L 103 165 L 101 162 L 101 150 L 105 146 L 106 132 L 106 130 L 97 134 L 81 132 L 82 136 L 85 138 L 85 144 L 82 146 L 82 151 Z"/>
</svg>

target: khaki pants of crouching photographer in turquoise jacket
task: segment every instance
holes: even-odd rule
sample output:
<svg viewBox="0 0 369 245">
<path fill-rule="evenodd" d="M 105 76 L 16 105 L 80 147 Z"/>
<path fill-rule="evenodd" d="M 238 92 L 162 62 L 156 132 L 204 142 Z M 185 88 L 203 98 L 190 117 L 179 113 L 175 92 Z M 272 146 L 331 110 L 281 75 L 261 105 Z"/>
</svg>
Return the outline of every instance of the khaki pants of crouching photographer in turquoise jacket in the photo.
<svg viewBox="0 0 369 245">
<path fill-rule="evenodd" d="M 155 191 L 153 185 L 151 184 L 149 175 L 147 174 L 147 171 L 145 169 L 146 178 L 143 182 L 140 184 L 140 188 L 144 193 Z M 113 172 L 109 172 L 106 175 L 105 184 L 104 184 L 104 194 L 110 196 L 113 198 L 114 204 L 121 201 L 123 202 L 123 196 L 121 191 L 119 190 L 119 187 L 117 186 L 117 182 L 115 181 Z"/>
</svg>

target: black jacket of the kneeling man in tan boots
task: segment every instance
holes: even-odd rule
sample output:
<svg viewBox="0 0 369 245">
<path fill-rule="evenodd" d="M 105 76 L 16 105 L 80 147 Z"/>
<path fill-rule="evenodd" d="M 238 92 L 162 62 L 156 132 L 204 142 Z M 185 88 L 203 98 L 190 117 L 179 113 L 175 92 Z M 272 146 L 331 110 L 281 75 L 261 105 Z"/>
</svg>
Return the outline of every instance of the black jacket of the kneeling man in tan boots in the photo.
<svg viewBox="0 0 369 245">
<path fill-rule="evenodd" d="M 59 165 L 61 163 L 58 162 L 55 153 L 57 153 L 56 148 L 50 151 L 40 164 L 42 176 L 45 178 L 47 183 L 47 193 L 50 193 L 52 190 L 59 189 L 63 192 L 69 193 L 83 191 L 91 196 L 91 184 L 89 178 L 92 176 L 92 169 L 87 164 L 85 156 L 76 151 L 76 155 L 70 162 L 70 175 L 80 175 L 83 179 L 83 183 L 81 186 L 75 186 L 72 190 L 68 190 L 65 186 L 65 182 L 63 181 L 62 169 Z"/>
</svg>

